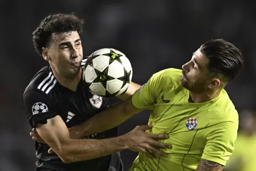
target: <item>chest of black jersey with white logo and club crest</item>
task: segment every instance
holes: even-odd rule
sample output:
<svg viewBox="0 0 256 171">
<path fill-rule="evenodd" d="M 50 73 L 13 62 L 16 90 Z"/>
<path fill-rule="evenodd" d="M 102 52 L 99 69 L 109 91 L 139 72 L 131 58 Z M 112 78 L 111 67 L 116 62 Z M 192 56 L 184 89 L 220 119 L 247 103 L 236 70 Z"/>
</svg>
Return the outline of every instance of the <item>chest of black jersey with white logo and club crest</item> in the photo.
<svg viewBox="0 0 256 171">
<path fill-rule="evenodd" d="M 67 127 L 78 125 L 108 107 L 107 99 L 93 95 L 87 89 L 76 92 L 59 89 L 58 92 L 53 98 Z"/>
</svg>

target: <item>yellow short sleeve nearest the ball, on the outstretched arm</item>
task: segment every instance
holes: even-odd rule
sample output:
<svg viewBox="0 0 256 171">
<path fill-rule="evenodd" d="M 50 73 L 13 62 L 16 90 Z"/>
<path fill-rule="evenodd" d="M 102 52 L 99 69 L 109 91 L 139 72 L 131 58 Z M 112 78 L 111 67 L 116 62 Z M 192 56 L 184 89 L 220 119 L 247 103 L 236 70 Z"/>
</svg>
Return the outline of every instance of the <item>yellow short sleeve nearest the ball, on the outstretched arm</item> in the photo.
<svg viewBox="0 0 256 171">
<path fill-rule="evenodd" d="M 155 73 L 151 76 L 146 84 L 134 92 L 132 96 L 133 105 L 137 108 L 153 108 L 156 99 L 161 92 L 161 88 L 159 88 L 161 81 L 161 72 Z"/>
</svg>

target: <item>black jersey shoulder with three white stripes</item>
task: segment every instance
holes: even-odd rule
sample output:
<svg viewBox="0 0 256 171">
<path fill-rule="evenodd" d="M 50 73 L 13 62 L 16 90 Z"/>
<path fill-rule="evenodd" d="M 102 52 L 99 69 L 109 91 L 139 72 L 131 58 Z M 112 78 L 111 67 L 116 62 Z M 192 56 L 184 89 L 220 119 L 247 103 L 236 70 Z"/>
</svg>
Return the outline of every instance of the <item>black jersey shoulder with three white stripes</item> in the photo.
<svg viewBox="0 0 256 171">
<path fill-rule="evenodd" d="M 43 67 L 43 69 L 35 74 L 33 79 L 26 87 L 24 94 L 31 91 L 48 94 L 54 88 L 56 82 L 57 80 L 50 70 L 50 65 L 46 65 Z"/>
</svg>

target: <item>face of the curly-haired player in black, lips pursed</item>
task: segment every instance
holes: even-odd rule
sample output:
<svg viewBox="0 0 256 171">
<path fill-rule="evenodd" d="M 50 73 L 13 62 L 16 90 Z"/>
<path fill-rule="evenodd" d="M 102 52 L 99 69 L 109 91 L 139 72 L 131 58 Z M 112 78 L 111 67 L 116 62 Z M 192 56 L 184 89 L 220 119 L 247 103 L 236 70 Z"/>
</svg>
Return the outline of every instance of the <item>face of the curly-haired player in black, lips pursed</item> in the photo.
<svg viewBox="0 0 256 171">
<path fill-rule="evenodd" d="M 81 70 L 83 48 L 77 31 L 53 33 L 48 48 L 43 48 L 43 57 L 52 70 L 66 78 L 75 78 Z"/>
</svg>

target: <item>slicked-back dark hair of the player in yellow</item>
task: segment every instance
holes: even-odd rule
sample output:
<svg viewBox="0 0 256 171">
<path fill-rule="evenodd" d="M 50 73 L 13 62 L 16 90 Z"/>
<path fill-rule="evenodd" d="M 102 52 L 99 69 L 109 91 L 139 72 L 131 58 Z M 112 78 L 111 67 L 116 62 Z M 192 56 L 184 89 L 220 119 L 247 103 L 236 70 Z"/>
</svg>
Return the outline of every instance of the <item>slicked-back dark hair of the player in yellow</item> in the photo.
<svg viewBox="0 0 256 171">
<path fill-rule="evenodd" d="M 243 56 L 235 45 L 223 39 L 213 39 L 205 42 L 200 48 L 209 59 L 208 70 L 233 80 L 242 70 Z"/>
</svg>

